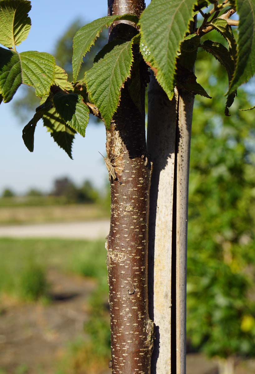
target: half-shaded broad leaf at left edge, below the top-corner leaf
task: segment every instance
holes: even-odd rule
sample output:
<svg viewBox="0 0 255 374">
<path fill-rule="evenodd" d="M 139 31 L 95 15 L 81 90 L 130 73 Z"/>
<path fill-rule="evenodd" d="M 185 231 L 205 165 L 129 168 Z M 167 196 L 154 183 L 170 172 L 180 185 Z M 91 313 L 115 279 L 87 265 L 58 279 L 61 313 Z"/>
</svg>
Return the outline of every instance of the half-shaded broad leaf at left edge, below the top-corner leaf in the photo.
<svg viewBox="0 0 255 374">
<path fill-rule="evenodd" d="M 0 47 L 0 94 L 4 102 L 12 99 L 21 83 L 33 86 L 42 97 L 54 83 L 55 59 L 49 53 L 16 53 Z"/>
</svg>

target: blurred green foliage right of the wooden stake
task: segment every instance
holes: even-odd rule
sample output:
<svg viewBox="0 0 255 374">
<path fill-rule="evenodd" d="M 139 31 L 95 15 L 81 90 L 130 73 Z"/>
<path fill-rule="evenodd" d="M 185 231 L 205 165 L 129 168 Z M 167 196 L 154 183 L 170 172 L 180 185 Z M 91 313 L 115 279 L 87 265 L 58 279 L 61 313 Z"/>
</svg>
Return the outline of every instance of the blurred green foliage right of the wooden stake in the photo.
<svg viewBox="0 0 255 374">
<path fill-rule="evenodd" d="M 193 113 L 187 336 L 210 357 L 254 356 L 255 113 L 239 110 L 254 95 L 240 88 L 226 117 L 224 68 L 201 52 L 196 75 L 212 99 L 196 97 Z"/>
</svg>

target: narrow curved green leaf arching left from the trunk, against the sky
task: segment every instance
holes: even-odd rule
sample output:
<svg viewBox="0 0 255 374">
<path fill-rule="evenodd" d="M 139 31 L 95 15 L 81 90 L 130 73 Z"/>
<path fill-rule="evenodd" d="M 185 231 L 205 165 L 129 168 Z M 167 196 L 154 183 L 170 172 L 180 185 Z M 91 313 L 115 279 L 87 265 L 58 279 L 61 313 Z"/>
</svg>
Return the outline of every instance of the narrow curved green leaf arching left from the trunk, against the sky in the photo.
<svg viewBox="0 0 255 374">
<path fill-rule="evenodd" d="M 107 16 L 96 19 L 93 22 L 83 26 L 74 36 L 73 40 L 73 79 L 74 82 L 77 80 L 77 76 L 80 71 L 82 59 L 85 54 L 90 50 L 90 47 L 94 45 L 96 38 L 101 33 L 104 27 L 109 27 L 114 21 L 126 19 L 137 23 L 138 18 L 135 15 L 125 14 L 122 16 Z"/>
</svg>

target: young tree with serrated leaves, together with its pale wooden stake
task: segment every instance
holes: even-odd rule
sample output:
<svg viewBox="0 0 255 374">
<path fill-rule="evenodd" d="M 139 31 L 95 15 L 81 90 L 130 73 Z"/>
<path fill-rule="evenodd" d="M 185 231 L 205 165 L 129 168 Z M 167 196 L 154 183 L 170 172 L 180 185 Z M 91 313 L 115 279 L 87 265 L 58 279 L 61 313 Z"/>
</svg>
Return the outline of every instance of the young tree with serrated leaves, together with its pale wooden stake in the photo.
<svg viewBox="0 0 255 374">
<path fill-rule="evenodd" d="M 208 8 L 209 2 L 213 4 L 211 8 Z M 106 243 L 111 312 L 110 366 L 114 374 L 148 374 L 150 371 L 182 374 L 185 373 L 190 128 L 194 94 L 209 98 L 196 82 L 194 62 L 201 47 L 227 70 L 230 84 L 225 114 L 228 115 L 236 89 L 255 73 L 255 40 L 247 37 L 253 35 L 255 27 L 255 4 L 250 0 L 225 0 L 222 3 L 216 0 L 153 0 L 147 9 L 144 7 L 144 0 L 108 0 L 108 16 L 77 31 L 73 41 L 73 83 L 70 83 L 65 71 L 48 53 L 16 51 L 16 46 L 27 37 L 30 29 L 30 1 L 0 0 L 0 42 L 5 47 L 0 49 L 0 95 L 4 102 L 10 101 L 23 83 L 34 86 L 36 95 L 41 98 L 36 114 L 23 130 L 23 140 L 30 151 L 33 151 L 34 131 L 40 118 L 70 157 L 76 132 L 85 136 L 89 113 L 104 120 L 105 163 L 111 182 L 111 223 Z M 236 10 L 240 18 L 238 48 L 231 29 L 238 21 L 230 19 Z M 203 16 L 198 28 L 194 20 L 197 12 Z M 78 81 L 83 56 L 105 26 L 109 27 L 109 42 L 96 56 L 93 67 Z M 201 38 L 213 29 L 227 40 L 227 48 L 210 40 L 202 43 Z M 157 128 L 156 116 L 150 115 L 149 152 L 144 113 L 145 85 L 150 80 L 148 66 L 153 71 L 151 76 L 154 74 L 161 86 L 161 89 L 155 88 L 152 83 L 150 98 L 155 96 L 156 101 L 150 99 L 149 104 L 154 105 L 157 97 L 163 95 L 163 99 L 158 100 L 161 113 L 157 114 L 165 118 L 166 113 L 170 114 L 171 120 L 165 131 L 167 134 L 169 128 L 174 140 L 170 138 L 156 144 L 150 140 L 156 139 L 152 128 L 154 134 L 155 131 L 163 134 L 163 130 Z M 158 110 L 151 108 L 150 112 Z M 156 148 L 163 154 L 158 165 Z M 149 153 L 155 165 L 150 228 L 152 163 Z M 161 171 L 168 169 L 167 165 L 171 166 L 166 180 Z M 166 186 L 158 188 L 158 192 L 157 183 L 162 186 L 162 178 Z M 161 209 L 166 205 L 166 199 L 162 199 L 162 204 L 160 196 L 168 186 L 172 196 L 169 203 L 172 211 L 167 214 L 170 237 L 165 234 L 166 230 L 163 234 L 156 230 L 162 221 L 166 227 L 166 221 L 162 219 L 165 211 Z M 156 211 L 157 206 L 160 209 Z M 152 365 L 154 329 L 148 313 L 148 229 L 150 240 L 155 243 L 155 261 L 150 265 L 155 270 L 154 275 L 150 271 L 154 280 L 154 285 L 150 283 L 150 289 L 154 287 L 154 292 L 150 292 L 150 302 L 154 304 L 150 317 L 156 317 L 157 332 Z M 163 237 L 162 242 L 160 237 Z M 166 246 L 166 242 L 170 245 Z M 153 251 L 154 245 L 151 245 L 151 255 Z M 160 268 L 158 258 L 163 264 L 163 273 L 157 273 Z M 163 283 L 156 282 L 165 279 L 171 266 L 171 277 Z M 153 293 L 163 296 L 155 297 L 154 303 Z M 171 320 L 171 328 L 169 323 L 165 328 L 162 321 L 157 320 L 164 303 L 163 320 Z"/>
</svg>

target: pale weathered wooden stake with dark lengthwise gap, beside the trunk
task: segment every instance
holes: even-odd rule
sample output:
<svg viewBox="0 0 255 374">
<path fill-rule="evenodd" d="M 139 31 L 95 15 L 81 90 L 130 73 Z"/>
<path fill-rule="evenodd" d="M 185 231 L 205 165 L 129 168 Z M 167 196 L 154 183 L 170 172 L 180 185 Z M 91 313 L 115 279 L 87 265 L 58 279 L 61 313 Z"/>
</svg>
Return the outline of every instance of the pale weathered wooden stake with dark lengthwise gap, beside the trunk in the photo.
<svg viewBox="0 0 255 374">
<path fill-rule="evenodd" d="M 149 310 L 156 325 L 151 373 L 185 374 L 188 175 L 194 95 L 175 90 L 169 101 L 154 77 L 148 95 L 147 147 L 153 161 Z"/>
</svg>

